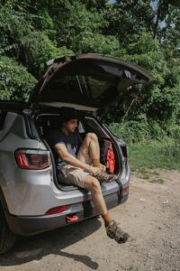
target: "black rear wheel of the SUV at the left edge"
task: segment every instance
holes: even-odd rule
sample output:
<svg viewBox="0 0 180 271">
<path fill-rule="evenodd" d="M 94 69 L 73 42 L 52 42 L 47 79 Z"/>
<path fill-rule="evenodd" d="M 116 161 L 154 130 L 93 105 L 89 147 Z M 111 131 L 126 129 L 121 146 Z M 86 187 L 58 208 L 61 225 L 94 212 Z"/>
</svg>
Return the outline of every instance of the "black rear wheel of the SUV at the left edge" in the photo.
<svg viewBox="0 0 180 271">
<path fill-rule="evenodd" d="M 14 247 L 16 240 L 15 234 L 8 228 L 4 216 L 4 210 L 0 203 L 0 254 L 7 252 Z"/>
</svg>

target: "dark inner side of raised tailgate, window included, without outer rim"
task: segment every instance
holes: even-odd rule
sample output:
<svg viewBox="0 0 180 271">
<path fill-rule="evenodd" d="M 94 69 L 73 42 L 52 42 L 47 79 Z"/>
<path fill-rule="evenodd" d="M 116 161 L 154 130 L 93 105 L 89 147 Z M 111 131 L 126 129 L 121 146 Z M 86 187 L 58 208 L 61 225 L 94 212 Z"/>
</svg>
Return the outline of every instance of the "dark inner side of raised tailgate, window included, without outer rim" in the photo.
<svg viewBox="0 0 180 271">
<path fill-rule="evenodd" d="M 106 107 L 132 84 L 137 83 L 131 69 L 111 61 L 78 60 L 62 65 L 44 82 L 37 101 L 74 103 Z"/>
</svg>

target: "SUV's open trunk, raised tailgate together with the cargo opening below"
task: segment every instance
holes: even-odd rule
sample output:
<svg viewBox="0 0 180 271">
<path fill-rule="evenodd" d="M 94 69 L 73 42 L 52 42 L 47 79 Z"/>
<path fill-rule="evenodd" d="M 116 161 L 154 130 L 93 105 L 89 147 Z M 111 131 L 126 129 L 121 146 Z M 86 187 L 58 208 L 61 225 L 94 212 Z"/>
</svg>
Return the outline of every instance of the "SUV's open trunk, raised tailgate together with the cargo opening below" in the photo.
<svg viewBox="0 0 180 271">
<path fill-rule="evenodd" d="M 95 133 L 101 150 L 104 140 L 111 141 L 115 155 L 114 173 L 117 174 L 117 184 L 121 186 L 127 184 L 130 177 L 126 145 L 95 119 L 94 112 L 100 113 L 102 109 L 112 107 L 132 86 L 148 83 L 152 79 L 147 70 L 119 58 L 88 53 L 58 57 L 48 62 L 47 70 L 31 93 L 28 107 L 34 112 L 39 111 L 35 123 L 47 148 L 45 132 L 57 128 L 59 108 L 75 108 L 82 115 L 78 127 L 82 136 L 88 132 Z M 77 189 L 58 182 L 53 150 L 51 157 L 58 188 Z M 104 190 L 108 190 L 108 185 L 110 183 L 104 184 Z"/>
</svg>

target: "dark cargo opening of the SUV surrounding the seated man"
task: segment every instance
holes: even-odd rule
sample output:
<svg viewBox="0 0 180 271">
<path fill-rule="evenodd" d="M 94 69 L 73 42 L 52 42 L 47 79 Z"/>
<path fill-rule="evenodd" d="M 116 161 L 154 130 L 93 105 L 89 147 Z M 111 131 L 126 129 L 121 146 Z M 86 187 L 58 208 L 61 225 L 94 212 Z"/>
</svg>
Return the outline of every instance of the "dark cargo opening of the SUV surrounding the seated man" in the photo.
<svg viewBox="0 0 180 271">
<path fill-rule="evenodd" d="M 82 112 L 80 113 L 82 115 Z M 100 152 L 101 152 L 101 163 L 103 164 L 102 161 L 102 149 L 103 149 L 103 144 L 105 141 L 111 141 L 112 143 L 112 148 L 113 148 L 113 154 L 115 155 L 115 168 L 114 168 L 114 173 L 117 175 L 121 176 L 121 170 L 122 170 L 122 161 L 121 161 L 121 156 L 120 152 L 118 152 L 117 148 L 117 143 L 114 140 L 114 137 L 110 133 L 110 131 L 105 127 L 102 126 L 102 124 L 98 121 L 93 116 L 89 116 L 88 114 L 83 113 L 83 117 L 81 117 L 81 120 L 79 121 L 78 124 L 78 132 L 82 136 L 82 138 L 85 136 L 86 133 L 92 132 L 95 135 L 98 136 L 99 144 L 100 144 Z M 55 159 L 54 159 L 54 152 L 52 149 L 49 147 L 49 143 L 46 140 L 46 132 L 49 129 L 52 128 L 58 128 L 58 113 L 41 113 L 38 116 L 35 117 L 35 125 L 39 131 L 40 137 L 44 144 L 49 148 L 50 153 L 51 153 L 51 160 L 52 160 L 52 165 L 53 165 L 53 177 L 54 177 L 54 182 L 58 186 L 59 189 L 63 191 L 69 191 L 69 190 L 75 190 L 79 189 L 73 185 L 65 185 L 60 180 L 58 180 L 57 177 L 57 169 L 55 165 Z"/>
</svg>

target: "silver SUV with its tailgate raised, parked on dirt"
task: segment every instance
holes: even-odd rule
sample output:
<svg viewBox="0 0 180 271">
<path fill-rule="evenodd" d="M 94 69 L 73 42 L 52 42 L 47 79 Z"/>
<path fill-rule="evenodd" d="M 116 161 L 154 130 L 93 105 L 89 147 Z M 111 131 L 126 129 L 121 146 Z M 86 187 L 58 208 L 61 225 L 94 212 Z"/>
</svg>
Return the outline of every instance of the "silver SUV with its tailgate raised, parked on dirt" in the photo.
<svg viewBox="0 0 180 271">
<path fill-rule="evenodd" d="M 146 70 L 118 58 L 97 54 L 59 57 L 47 63 L 28 103 L 0 102 L 0 253 L 14 246 L 17 235 L 34 235 L 98 214 L 90 192 L 64 185 L 57 178 L 44 135 L 58 126 L 60 107 L 76 108 L 82 136 L 94 132 L 101 146 L 112 143 L 118 178 L 103 182 L 104 200 L 108 209 L 127 201 L 126 145 L 95 115 L 112 106 L 130 86 L 151 79 Z"/>
</svg>

